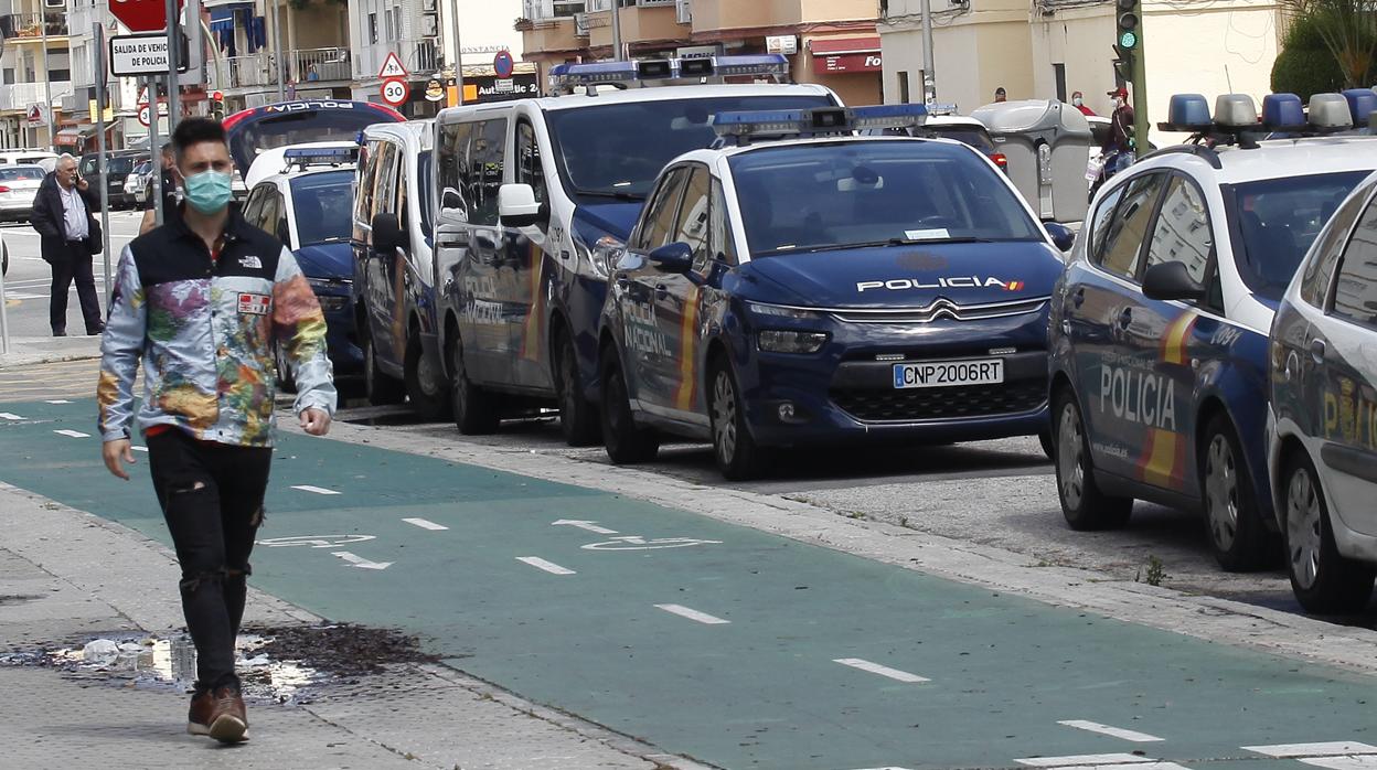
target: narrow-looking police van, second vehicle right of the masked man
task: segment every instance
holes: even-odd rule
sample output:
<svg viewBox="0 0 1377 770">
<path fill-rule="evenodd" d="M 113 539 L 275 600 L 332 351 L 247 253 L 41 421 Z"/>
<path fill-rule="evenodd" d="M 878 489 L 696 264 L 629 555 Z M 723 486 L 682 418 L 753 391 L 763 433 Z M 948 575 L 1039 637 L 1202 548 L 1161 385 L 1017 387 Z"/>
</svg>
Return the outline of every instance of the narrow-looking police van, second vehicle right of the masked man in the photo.
<svg viewBox="0 0 1377 770">
<path fill-rule="evenodd" d="M 373 404 L 412 406 L 428 420 L 449 416 L 441 368 L 431 259 L 432 121 L 364 129 L 353 212 L 353 313 Z"/>
</svg>

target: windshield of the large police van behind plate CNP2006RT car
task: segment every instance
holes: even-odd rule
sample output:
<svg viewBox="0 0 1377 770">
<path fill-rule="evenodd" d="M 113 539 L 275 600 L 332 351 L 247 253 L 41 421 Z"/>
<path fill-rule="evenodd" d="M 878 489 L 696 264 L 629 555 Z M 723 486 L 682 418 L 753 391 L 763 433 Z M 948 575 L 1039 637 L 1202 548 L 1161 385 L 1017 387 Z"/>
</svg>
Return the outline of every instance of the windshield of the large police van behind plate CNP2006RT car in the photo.
<svg viewBox="0 0 1377 770">
<path fill-rule="evenodd" d="M 665 164 L 712 145 L 712 114 L 832 103 L 821 94 L 683 98 L 551 110 L 545 120 L 570 194 L 640 200 Z"/>
</svg>

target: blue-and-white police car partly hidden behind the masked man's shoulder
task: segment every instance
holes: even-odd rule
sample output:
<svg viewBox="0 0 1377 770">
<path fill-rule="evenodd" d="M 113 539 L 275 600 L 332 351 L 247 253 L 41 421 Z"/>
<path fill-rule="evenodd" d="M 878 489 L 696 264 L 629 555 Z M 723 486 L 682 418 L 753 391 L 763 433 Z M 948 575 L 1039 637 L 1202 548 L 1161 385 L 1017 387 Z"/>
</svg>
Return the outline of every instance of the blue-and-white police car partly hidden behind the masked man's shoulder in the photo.
<svg viewBox="0 0 1377 770">
<path fill-rule="evenodd" d="M 271 150 L 253 161 L 248 176 L 255 183 L 244 202 L 244 219 L 277 236 L 296 256 L 325 311 L 325 342 L 337 373 L 354 372 L 364 362 L 350 311 L 357 157 L 357 145 L 339 142 Z M 291 387 L 291 368 L 281 353 L 277 371 L 278 382 Z"/>
</svg>

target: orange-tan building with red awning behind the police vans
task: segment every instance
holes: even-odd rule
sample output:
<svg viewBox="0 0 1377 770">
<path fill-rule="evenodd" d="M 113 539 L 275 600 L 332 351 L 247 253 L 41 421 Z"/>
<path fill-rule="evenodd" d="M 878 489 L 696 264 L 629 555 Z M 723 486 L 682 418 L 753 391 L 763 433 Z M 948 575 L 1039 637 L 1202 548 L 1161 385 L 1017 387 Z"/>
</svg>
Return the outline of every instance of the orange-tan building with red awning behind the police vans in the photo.
<svg viewBox="0 0 1377 770">
<path fill-rule="evenodd" d="M 523 0 L 516 29 L 526 61 L 613 56 L 613 4 L 632 58 L 779 52 L 799 83 L 821 83 L 848 105 L 881 96 L 876 0 Z"/>
</svg>

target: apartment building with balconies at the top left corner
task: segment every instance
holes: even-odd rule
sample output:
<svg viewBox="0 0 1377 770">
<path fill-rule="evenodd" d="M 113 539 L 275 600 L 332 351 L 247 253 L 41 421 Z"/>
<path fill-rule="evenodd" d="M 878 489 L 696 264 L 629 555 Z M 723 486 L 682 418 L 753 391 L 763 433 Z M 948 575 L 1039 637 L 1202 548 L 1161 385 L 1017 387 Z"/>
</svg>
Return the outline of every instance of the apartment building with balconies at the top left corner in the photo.
<svg viewBox="0 0 1377 770">
<path fill-rule="evenodd" d="M 0 0 L 0 146 L 47 147 L 72 92 L 63 0 Z"/>
</svg>

